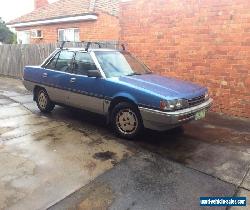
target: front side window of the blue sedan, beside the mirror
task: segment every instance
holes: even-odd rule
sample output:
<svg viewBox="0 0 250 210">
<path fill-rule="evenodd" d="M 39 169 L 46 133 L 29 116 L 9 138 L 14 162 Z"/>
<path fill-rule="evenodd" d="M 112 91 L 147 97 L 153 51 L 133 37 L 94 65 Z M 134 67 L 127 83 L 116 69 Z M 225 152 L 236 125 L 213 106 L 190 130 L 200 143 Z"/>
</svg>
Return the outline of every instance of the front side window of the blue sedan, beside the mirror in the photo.
<svg viewBox="0 0 250 210">
<path fill-rule="evenodd" d="M 77 52 L 74 61 L 75 74 L 87 75 L 88 70 L 97 70 L 97 67 L 89 53 Z"/>
</svg>

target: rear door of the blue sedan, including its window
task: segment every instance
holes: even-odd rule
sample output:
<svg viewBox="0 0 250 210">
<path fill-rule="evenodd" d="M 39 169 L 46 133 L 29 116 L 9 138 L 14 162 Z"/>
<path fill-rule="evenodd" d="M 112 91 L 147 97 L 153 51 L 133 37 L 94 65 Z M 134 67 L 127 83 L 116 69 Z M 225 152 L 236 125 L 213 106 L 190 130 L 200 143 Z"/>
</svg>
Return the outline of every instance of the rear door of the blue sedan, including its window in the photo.
<svg viewBox="0 0 250 210">
<path fill-rule="evenodd" d="M 69 102 L 74 54 L 73 51 L 62 50 L 44 68 L 42 83 L 54 102 L 66 105 Z"/>
</svg>

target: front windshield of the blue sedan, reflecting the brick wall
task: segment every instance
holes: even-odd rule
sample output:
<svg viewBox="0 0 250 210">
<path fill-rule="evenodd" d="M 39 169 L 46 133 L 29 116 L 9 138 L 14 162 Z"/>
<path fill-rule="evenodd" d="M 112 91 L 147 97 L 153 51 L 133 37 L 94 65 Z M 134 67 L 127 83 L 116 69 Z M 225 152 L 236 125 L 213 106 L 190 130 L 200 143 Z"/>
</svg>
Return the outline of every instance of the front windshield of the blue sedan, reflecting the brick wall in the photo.
<svg viewBox="0 0 250 210">
<path fill-rule="evenodd" d="M 106 77 L 134 76 L 150 74 L 151 71 L 127 52 L 95 52 Z"/>
</svg>

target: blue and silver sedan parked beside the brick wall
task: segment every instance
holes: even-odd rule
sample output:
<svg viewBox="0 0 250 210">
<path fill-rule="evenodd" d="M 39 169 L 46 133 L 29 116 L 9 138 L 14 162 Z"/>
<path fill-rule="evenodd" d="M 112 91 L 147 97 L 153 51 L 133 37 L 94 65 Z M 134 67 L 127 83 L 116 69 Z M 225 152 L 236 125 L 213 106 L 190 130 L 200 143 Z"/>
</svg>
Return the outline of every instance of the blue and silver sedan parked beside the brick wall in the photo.
<svg viewBox="0 0 250 210">
<path fill-rule="evenodd" d="M 213 101 L 207 88 L 156 75 L 126 50 L 60 48 L 25 67 L 23 80 L 41 112 L 58 104 L 98 113 L 127 139 L 200 120 Z"/>
</svg>

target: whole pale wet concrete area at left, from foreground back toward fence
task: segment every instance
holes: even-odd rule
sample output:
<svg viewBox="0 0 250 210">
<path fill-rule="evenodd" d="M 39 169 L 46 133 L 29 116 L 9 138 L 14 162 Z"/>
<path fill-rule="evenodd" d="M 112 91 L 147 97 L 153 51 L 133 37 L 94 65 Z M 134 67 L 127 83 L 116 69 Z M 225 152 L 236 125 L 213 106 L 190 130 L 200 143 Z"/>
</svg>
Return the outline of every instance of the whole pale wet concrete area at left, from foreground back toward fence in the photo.
<svg viewBox="0 0 250 210">
<path fill-rule="evenodd" d="M 46 209 L 134 153 L 94 129 L 34 114 L 21 87 L 0 93 L 0 209 Z"/>
</svg>

